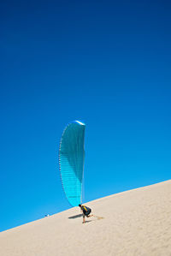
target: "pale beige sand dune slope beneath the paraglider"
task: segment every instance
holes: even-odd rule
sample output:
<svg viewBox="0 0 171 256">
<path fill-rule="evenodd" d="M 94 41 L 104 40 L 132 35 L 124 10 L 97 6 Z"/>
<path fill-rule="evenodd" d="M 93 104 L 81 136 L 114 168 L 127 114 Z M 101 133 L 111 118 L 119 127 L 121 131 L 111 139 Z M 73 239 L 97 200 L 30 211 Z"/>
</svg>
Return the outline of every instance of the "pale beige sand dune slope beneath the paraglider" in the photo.
<svg viewBox="0 0 171 256">
<path fill-rule="evenodd" d="M 171 255 L 171 181 L 117 193 L 0 233 L 1 256 Z M 68 218 L 74 217 L 74 218 Z"/>
</svg>

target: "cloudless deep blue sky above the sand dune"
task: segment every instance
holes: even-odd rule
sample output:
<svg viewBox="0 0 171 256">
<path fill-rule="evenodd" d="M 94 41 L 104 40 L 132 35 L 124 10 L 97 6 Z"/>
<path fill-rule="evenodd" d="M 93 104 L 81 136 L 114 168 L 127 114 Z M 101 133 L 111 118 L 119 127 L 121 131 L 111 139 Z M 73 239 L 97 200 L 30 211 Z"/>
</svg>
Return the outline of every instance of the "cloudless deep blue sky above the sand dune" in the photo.
<svg viewBox="0 0 171 256">
<path fill-rule="evenodd" d="M 0 21 L 0 231 L 69 208 L 74 120 L 85 201 L 170 179 L 169 1 L 3 1 Z"/>
</svg>

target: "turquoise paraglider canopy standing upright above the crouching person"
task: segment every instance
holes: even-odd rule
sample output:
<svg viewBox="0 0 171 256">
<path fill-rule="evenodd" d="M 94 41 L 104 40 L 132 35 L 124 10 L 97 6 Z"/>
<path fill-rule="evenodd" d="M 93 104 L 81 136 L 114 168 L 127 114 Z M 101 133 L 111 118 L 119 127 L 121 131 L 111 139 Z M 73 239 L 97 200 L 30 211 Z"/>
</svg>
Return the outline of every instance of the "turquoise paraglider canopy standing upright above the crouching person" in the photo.
<svg viewBox="0 0 171 256">
<path fill-rule="evenodd" d="M 62 187 L 72 206 L 82 202 L 82 181 L 85 162 L 85 124 L 70 122 L 64 129 L 59 147 Z"/>
</svg>

